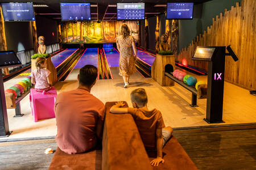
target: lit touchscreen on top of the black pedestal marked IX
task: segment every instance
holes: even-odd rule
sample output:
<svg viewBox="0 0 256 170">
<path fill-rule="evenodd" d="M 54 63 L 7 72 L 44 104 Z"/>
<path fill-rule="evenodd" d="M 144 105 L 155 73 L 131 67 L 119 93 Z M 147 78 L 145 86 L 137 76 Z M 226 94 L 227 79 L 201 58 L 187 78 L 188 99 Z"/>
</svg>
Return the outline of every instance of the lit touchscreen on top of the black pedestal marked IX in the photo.
<svg viewBox="0 0 256 170">
<path fill-rule="evenodd" d="M 214 47 L 198 47 L 196 48 L 196 52 L 192 58 L 201 58 L 201 59 L 212 59 Z"/>
</svg>

